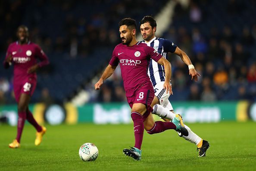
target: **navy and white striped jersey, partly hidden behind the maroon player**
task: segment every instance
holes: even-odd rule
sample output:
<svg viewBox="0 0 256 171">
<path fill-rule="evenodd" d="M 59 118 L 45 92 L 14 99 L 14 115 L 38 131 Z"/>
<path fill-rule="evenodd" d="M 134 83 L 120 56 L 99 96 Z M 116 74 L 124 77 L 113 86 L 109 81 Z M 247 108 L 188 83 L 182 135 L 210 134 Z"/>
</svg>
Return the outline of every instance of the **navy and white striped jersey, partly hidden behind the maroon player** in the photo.
<svg viewBox="0 0 256 171">
<path fill-rule="evenodd" d="M 163 39 L 163 38 L 156 38 L 154 37 L 150 42 L 146 43 L 144 40 L 143 42 L 147 44 L 149 47 L 153 47 L 158 53 L 160 53 L 165 59 L 167 57 L 167 53 L 171 52 L 174 53 L 176 50 L 177 45 L 172 43 L 170 40 Z M 165 81 L 165 69 L 162 65 L 158 64 L 154 60 L 150 59 L 150 64 L 148 68 L 148 75 L 150 77 L 150 81 L 152 82 L 153 86 L 161 81 Z"/>
</svg>

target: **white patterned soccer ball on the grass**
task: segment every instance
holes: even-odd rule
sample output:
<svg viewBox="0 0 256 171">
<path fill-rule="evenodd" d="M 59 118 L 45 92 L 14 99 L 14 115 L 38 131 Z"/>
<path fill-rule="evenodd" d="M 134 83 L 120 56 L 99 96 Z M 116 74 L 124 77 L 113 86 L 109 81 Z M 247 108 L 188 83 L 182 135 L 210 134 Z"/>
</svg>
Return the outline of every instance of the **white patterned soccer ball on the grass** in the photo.
<svg viewBox="0 0 256 171">
<path fill-rule="evenodd" d="M 83 161 L 94 161 L 97 159 L 99 151 L 93 143 L 85 143 L 79 149 L 79 156 Z"/>
</svg>

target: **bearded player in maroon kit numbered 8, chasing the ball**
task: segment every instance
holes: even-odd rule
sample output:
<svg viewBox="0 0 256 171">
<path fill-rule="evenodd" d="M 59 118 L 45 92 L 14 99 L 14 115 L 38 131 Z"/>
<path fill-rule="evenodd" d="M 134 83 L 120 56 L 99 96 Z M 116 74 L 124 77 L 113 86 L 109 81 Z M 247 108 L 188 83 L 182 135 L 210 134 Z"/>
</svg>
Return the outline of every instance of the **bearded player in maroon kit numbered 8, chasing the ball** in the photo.
<svg viewBox="0 0 256 171">
<path fill-rule="evenodd" d="M 141 159 L 141 144 L 144 128 L 148 134 L 156 134 L 168 129 L 181 131 L 188 134 L 181 124 L 181 118 L 176 117 L 173 122 L 154 121 L 152 107 L 154 98 L 153 85 L 147 75 L 150 58 L 165 67 L 165 83 L 163 87 L 166 93 L 172 94 L 170 85 L 171 64 L 152 47 L 136 40 L 136 22 L 133 19 L 122 19 L 119 22 L 119 33 L 122 44 L 118 44 L 112 53 L 109 65 L 106 67 L 100 80 L 95 84 L 99 90 L 103 81 L 109 78 L 120 63 L 122 79 L 126 92 L 127 101 L 131 107 L 131 118 L 134 122 L 135 145 L 131 149 L 124 149 L 125 155 L 135 160 Z"/>
</svg>

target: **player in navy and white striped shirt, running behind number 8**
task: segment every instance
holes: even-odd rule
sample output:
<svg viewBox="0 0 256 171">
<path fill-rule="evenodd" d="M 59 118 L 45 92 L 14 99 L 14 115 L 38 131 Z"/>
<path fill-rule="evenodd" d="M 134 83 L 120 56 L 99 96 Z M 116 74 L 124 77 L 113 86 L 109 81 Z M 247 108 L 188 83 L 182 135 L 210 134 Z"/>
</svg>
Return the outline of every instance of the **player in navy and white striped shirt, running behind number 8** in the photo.
<svg viewBox="0 0 256 171">
<path fill-rule="evenodd" d="M 160 53 L 165 59 L 168 52 L 175 53 L 176 55 L 180 56 L 182 61 L 188 65 L 189 75 L 192 77 L 191 80 L 198 81 L 198 76 L 200 76 L 200 74 L 197 73 L 187 54 L 178 48 L 177 45 L 175 45 L 172 41 L 163 38 L 156 38 L 156 21 L 153 19 L 153 17 L 145 16 L 140 21 L 140 33 L 144 39 L 143 42 L 147 44 L 147 46 L 153 47 L 155 50 L 157 50 L 157 52 Z M 151 59 L 148 75 L 150 76 L 150 81 L 152 82 L 155 90 L 155 97 L 151 104 L 151 107 L 153 107 L 152 113 L 160 116 L 165 121 L 172 121 L 177 114 L 174 113 L 172 105 L 169 102 L 170 94 L 163 93 L 165 91 L 162 88 L 162 84 L 165 81 L 164 67 Z M 184 136 L 178 132 L 179 136 L 197 145 L 199 157 L 206 156 L 206 150 L 209 148 L 209 143 L 191 131 L 187 125 L 184 126 L 189 134 L 188 136 Z"/>
</svg>

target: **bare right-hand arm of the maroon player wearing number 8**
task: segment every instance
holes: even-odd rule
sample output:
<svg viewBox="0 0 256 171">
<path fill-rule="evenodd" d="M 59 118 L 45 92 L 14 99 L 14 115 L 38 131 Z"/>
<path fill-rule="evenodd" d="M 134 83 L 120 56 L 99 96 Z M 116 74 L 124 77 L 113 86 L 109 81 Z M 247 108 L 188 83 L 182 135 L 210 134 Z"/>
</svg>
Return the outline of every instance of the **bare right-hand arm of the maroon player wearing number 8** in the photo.
<svg viewBox="0 0 256 171">
<path fill-rule="evenodd" d="M 171 76 L 172 76 L 171 63 L 164 57 L 160 58 L 157 63 L 159 63 L 160 65 L 163 65 L 165 68 L 165 83 L 164 83 L 163 87 L 166 89 L 166 93 L 169 92 L 169 94 L 173 94 L 172 93 L 172 85 L 170 84 Z"/>
</svg>

